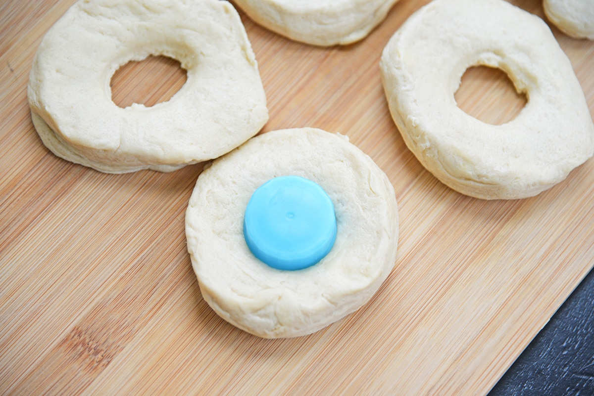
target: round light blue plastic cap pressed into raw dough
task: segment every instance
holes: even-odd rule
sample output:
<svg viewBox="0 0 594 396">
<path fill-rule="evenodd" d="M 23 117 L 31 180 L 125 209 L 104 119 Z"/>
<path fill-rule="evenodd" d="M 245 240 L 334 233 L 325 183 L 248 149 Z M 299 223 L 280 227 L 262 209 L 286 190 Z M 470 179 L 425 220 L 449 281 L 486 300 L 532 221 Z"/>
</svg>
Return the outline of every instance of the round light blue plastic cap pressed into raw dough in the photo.
<svg viewBox="0 0 594 396">
<path fill-rule="evenodd" d="M 244 237 L 254 256 L 279 270 L 301 270 L 324 258 L 336 239 L 334 205 L 318 184 L 273 178 L 245 209 Z"/>
</svg>

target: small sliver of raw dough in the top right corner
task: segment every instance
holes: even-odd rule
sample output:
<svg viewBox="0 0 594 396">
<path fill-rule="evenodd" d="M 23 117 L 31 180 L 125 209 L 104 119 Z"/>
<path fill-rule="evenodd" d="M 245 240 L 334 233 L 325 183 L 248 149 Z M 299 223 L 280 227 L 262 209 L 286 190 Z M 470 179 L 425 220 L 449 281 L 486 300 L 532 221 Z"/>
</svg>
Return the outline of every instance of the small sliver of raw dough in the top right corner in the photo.
<svg viewBox="0 0 594 396">
<path fill-rule="evenodd" d="M 546 17 L 567 36 L 594 40 L 592 0 L 544 0 Z"/>
</svg>

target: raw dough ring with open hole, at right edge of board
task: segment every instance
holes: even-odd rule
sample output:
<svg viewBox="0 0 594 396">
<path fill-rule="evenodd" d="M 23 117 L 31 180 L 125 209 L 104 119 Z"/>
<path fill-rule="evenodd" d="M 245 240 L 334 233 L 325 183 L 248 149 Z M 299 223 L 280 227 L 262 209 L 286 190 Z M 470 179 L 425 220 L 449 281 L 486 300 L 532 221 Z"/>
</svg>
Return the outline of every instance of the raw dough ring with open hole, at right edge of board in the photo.
<svg viewBox="0 0 594 396">
<path fill-rule="evenodd" d="M 470 66 L 507 73 L 527 104 L 491 125 L 456 106 Z M 390 112 L 424 167 L 482 199 L 534 196 L 594 152 L 594 126 L 570 61 L 540 18 L 503 0 L 435 0 L 388 42 L 380 62 Z"/>
</svg>

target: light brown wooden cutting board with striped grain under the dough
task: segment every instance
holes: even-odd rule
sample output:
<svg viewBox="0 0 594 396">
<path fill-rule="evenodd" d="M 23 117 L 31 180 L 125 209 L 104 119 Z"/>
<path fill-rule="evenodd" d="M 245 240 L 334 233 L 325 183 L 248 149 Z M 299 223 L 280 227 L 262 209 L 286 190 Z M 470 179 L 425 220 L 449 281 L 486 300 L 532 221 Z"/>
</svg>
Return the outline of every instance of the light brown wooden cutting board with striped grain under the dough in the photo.
<svg viewBox="0 0 594 396">
<path fill-rule="evenodd" d="M 264 131 L 340 132 L 396 190 L 396 266 L 355 314 L 307 337 L 263 340 L 203 301 L 184 212 L 202 165 L 102 174 L 41 143 L 27 107 L 40 39 L 74 0 L 0 4 L 0 392 L 36 394 L 484 395 L 594 264 L 594 160 L 539 196 L 473 199 L 407 150 L 378 61 L 427 0 L 401 0 L 371 36 L 318 48 L 241 14 L 260 64 Z M 542 17 L 539 0 L 514 4 Z M 594 42 L 552 31 L 594 114 Z M 173 61 L 120 69 L 113 98 L 152 104 L 184 82 Z M 473 68 L 459 106 L 486 122 L 524 98 Z M 570 120 L 568 120 L 569 122 Z"/>
</svg>

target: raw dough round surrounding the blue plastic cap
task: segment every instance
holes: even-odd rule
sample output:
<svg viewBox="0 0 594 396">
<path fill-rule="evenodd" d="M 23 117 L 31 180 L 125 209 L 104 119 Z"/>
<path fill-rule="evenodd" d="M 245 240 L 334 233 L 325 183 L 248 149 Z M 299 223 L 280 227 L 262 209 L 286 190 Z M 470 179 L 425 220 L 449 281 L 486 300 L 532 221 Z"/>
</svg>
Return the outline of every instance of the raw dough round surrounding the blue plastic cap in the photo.
<svg viewBox="0 0 594 396">
<path fill-rule="evenodd" d="M 317 183 L 336 213 L 330 253 L 297 271 L 259 261 L 243 234 L 252 193 L 283 175 Z M 204 170 L 189 200 L 186 236 L 200 290 L 220 317 L 260 337 L 303 336 L 360 308 L 390 274 L 398 240 L 396 197 L 386 174 L 346 136 L 277 130 Z"/>
</svg>

